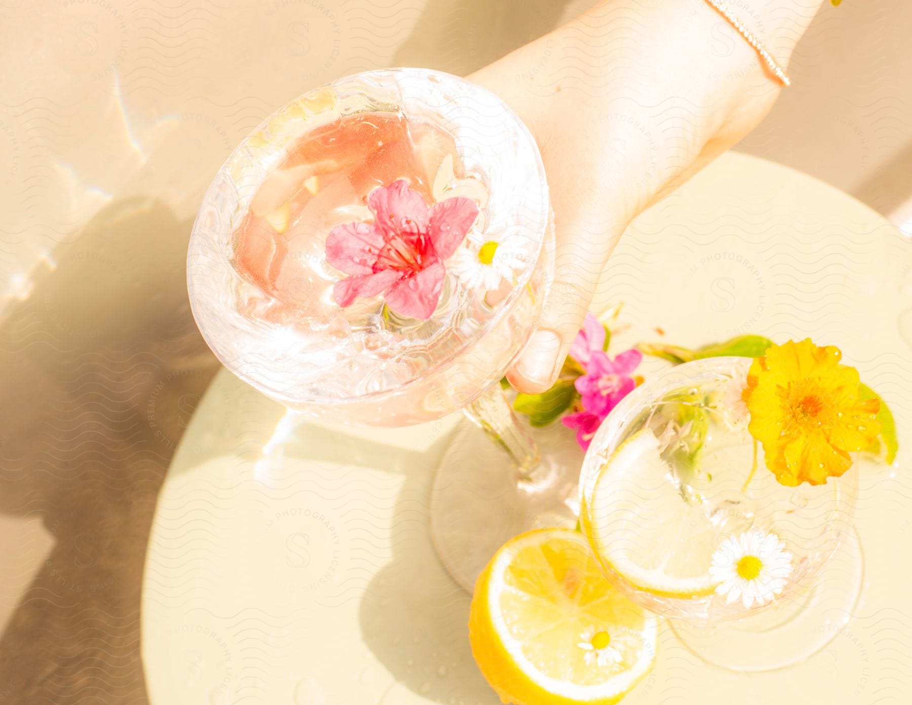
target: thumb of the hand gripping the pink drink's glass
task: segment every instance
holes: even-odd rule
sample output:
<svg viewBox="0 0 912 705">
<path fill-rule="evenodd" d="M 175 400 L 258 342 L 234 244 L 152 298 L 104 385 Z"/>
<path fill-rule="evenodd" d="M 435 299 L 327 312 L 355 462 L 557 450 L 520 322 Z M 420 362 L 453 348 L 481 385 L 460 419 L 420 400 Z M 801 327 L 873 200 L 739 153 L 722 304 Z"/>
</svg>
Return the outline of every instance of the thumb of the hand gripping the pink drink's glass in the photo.
<svg viewBox="0 0 912 705">
<path fill-rule="evenodd" d="M 617 234 L 606 229 L 604 220 L 600 226 L 577 222 L 558 231 L 554 280 L 545 293 L 541 317 L 507 373 L 520 392 L 541 393 L 557 380 L 616 241 Z"/>
</svg>

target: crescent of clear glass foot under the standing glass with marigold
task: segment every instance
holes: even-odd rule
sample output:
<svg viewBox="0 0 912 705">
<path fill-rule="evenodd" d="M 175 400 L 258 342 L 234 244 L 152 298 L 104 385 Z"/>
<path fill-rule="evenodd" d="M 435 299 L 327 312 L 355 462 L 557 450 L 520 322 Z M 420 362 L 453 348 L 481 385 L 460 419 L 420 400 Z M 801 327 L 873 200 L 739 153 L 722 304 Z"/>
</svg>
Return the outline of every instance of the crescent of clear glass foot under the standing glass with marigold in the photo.
<svg viewBox="0 0 912 705">
<path fill-rule="evenodd" d="M 853 529 L 823 567 L 814 587 L 759 614 L 720 624 L 673 619 L 672 627 L 700 659 L 723 669 L 783 669 L 824 649 L 852 618 L 864 574 Z"/>
</svg>

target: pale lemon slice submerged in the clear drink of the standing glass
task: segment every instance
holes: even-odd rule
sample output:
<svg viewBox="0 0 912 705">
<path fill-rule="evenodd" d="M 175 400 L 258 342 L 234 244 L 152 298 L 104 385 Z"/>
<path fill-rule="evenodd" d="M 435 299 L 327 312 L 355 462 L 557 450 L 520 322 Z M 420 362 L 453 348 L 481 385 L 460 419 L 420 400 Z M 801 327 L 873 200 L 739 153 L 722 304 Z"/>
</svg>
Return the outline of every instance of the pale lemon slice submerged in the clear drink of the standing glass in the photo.
<svg viewBox="0 0 912 705">
<path fill-rule="evenodd" d="M 650 429 L 611 455 L 581 514 L 598 556 L 633 587 L 699 598 L 719 584 L 710 565 L 720 530 L 699 497 L 684 501 Z"/>
</svg>

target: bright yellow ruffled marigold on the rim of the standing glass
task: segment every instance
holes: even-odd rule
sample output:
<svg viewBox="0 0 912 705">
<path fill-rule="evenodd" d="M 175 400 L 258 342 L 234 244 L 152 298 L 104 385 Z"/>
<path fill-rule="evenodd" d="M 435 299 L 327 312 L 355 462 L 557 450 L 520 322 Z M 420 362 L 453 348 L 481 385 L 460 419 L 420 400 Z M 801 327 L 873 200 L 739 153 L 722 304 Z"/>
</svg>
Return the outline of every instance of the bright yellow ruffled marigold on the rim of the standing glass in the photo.
<svg viewBox="0 0 912 705">
<path fill-rule="evenodd" d="M 858 371 L 841 357 L 808 338 L 772 345 L 751 364 L 743 393 L 748 429 L 782 485 L 823 485 L 880 434 L 880 402 L 858 398 Z"/>
</svg>

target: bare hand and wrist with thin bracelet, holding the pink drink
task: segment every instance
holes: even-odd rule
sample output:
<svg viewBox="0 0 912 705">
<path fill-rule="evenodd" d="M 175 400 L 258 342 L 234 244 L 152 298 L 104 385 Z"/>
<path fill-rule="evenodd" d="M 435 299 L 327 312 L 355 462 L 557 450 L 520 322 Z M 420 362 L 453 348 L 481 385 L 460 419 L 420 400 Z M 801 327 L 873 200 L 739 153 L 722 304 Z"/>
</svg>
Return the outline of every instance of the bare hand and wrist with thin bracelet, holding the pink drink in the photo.
<svg viewBox="0 0 912 705">
<path fill-rule="evenodd" d="M 759 0 L 738 13 L 787 66 L 819 5 Z M 630 220 L 750 132 L 781 86 L 705 0 L 604 0 L 469 78 L 532 131 L 551 191 L 554 281 L 507 375 L 539 393 L 560 372 Z"/>
</svg>

